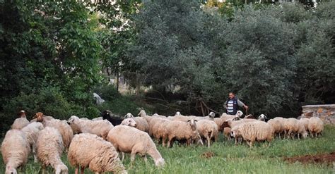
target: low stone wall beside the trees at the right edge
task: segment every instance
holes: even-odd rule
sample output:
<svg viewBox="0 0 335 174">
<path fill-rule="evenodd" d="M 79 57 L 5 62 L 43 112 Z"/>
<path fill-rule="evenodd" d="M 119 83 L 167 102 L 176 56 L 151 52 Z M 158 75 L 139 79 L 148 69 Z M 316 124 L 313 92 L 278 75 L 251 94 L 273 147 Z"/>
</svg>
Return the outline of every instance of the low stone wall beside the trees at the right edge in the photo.
<svg viewBox="0 0 335 174">
<path fill-rule="evenodd" d="M 326 124 L 335 124 L 335 104 L 302 106 L 302 116 L 307 118 L 317 116 Z"/>
</svg>

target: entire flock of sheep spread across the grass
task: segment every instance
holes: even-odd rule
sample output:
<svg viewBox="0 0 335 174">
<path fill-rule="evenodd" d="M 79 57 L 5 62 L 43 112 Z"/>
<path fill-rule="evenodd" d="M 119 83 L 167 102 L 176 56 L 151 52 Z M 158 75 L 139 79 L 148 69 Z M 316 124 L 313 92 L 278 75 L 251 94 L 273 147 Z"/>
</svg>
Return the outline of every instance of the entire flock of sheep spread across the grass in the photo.
<svg viewBox="0 0 335 174">
<path fill-rule="evenodd" d="M 95 173 L 127 173 L 122 164 L 124 153 L 131 154 L 131 162 L 136 154 L 144 161 L 148 155 L 155 166 L 164 166 L 165 160 L 153 139 L 163 147 L 172 147 L 175 140 L 187 145 L 206 142 L 210 147 L 222 132 L 228 140 L 234 139 L 235 144 L 247 142 L 252 147 L 254 142 L 271 142 L 274 137 L 318 137 L 324 130 L 324 123 L 317 117 L 299 120 L 276 117 L 266 122 L 264 114 L 258 119 L 241 118 L 242 115 L 242 111 L 237 111 L 236 116 L 223 113 L 220 118 L 215 118 L 213 112 L 206 117 L 182 116 L 180 112 L 175 116 L 157 113 L 148 116 L 141 110 L 137 117 L 127 113 L 124 118 L 114 118 L 110 111 L 104 111 L 102 117 L 93 120 L 77 116 L 58 120 L 39 112 L 28 121 L 25 111 L 20 111 L 20 118 L 14 120 L 11 130 L 6 132 L 1 154 L 8 174 L 17 173 L 17 168 L 27 163 L 30 152 L 34 161 L 42 164 L 42 173 L 47 166 L 54 168 L 57 174 L 69 173 L 61 161 L 64 151 L 76 174 L 79 170 L 83 173 L 85 168 Z"/>
</svg>

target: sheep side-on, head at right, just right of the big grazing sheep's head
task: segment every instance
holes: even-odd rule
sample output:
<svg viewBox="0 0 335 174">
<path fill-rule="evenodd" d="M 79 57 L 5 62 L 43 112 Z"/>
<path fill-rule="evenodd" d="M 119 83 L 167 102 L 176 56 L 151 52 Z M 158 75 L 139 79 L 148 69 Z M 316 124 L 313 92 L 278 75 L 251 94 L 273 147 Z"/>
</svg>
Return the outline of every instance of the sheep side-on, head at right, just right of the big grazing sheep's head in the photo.
<svg viewBox="0 0 335 174">
<path fill-rule="evenodd" d="M 170 144 L 173 139 L 186 139 L 187 145 L 191 144 L 194 140 L 203 144 L 200 134 L 196 129 L 196 122 L 197 120 L 191 119 L 188 120 L 186 123 L 180 120 L 172 120 L 166 125 L 167 131 L 167 147 L 170 147 Z"/>
</svg>

